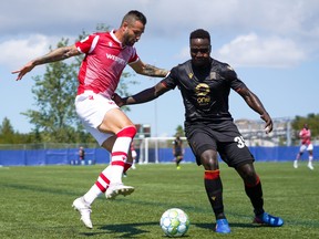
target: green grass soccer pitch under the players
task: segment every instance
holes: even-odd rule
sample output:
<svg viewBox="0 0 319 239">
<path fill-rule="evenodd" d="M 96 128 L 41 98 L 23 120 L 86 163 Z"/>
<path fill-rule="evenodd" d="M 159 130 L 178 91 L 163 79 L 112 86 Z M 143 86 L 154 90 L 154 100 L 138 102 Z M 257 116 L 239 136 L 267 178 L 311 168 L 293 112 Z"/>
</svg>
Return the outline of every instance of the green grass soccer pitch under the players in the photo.
<svg viewBox="0 0 319 239">
<path fill-rule="evenodd" d="M 173 207 L 191 219 L 184 238 L 319 238 L 319 167 L 298 169 L 292 163 L 256 163 L 261 178 L 265 209 L 285 220 L 281 228 L 251 225 L 253 209 L 243 181 L 220 164 L 224 204 L 231 233 L 213 231 L 215 219 L 207 200 L 203 168 L 182 164 L 137 165 L 123 178 L 134 194 L 92 205 L 93 229 L 80 221 L 72 201 L 95 181 L 105 165 L 0 168 L 1 238 L 165 238 L 162 214 Z M 316 164 L 315 164 L 316 167 Z"/>
</svg>

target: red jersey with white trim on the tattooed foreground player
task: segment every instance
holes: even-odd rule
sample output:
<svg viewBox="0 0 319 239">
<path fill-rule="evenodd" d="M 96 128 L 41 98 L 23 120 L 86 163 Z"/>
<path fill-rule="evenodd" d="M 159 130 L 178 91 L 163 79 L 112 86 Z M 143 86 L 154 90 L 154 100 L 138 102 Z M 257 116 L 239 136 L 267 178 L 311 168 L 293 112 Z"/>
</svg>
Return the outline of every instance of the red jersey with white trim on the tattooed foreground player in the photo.
<svg viewBox="0 0 319 239">
<path fill-rule="evenodd" d="M 110 98 L 124 67 L 138 60 L 135 48 L 123 48 L 114 31 L 90 34 L 75 46 L 85 54 L 78 76 L 78 95 L 89 90 Z"/>
</svg>

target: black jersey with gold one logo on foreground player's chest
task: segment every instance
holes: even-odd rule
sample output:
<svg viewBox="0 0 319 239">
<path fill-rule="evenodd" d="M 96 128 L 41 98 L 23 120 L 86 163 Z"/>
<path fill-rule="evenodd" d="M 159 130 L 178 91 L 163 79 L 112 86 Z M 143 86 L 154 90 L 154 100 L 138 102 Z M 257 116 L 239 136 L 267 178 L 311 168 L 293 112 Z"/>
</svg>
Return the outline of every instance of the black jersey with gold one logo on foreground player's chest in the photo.
<svg viewBox="0 0 319 239">
<path fill-rule="evenodd" d="M 196 69 L 188 60 L 173 67 L 162 83 L 181 90 L 185 123 L 233 121 L 228 111 L 230 89 L 236 91 L 245 86 L 228 64 L 214 59 L 207 69 Z"/>
</svg>

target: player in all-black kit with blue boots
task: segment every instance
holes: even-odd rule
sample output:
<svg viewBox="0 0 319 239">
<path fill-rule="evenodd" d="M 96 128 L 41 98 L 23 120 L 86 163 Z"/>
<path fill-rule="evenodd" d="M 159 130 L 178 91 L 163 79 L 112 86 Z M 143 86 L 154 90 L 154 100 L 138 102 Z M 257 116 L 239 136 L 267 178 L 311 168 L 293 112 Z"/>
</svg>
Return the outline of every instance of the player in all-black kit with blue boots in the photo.
<svg viewBox="0 0 319 239">
<path fill-rule="evenodd" d="M 236 91 L 265 121 L 265 131 L 272 131 L 272 119 L 260 100 L 241 82 L 226 63 L 210 58 L 210 35 L 198 29 L 191 33 L 191 56 L 173 67 L 169 75 L 155 86 L 133 96 L 114 95 L 119 106 L 152 101 L 165 92 L 181 91 L 185 106 L 185 135 L 198 165 L 203 165 L 204 184 L 216 217 L 215 231 L 229 233 L 230 228 L 224 212 L 223 184 L 219 176 L 217 153 L 234 167 L 244 180 L 244 187 L 254 207 L 254 222 L 280 227 L 284 220 L 264 210 L 261 181 L 254 167 L 254 156 L 245 145 L 228 111 L 230 90 Z"/>
</svg>

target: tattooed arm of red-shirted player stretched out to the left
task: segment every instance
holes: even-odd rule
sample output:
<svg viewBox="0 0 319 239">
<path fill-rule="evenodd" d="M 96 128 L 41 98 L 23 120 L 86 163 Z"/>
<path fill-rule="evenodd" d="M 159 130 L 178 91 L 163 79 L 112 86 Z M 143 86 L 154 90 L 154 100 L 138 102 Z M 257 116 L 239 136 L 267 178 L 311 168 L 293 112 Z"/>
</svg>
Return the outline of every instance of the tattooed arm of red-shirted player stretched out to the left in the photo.
<svg viewBox="0 0 319 239">
<path fill-rule="evenodd" d="M 17 81 L 21 80 L 28 72 L 32 71 L 33 67 L 40 64 L 45 64 L 50 62 L 55 62 L 55 61 L 61 61 L 74 55 L 81 54 L 75 45 L 70 45 L 70 46 L 63 46 L 63 48 L 58 48 L 48 54 L 40 56 L 38 59 L 34 59 L 30 62 L 28 62 L 23 67 L 17 71 L 12 71 L 12 74 L 17 74 Z"/>
</svg>

